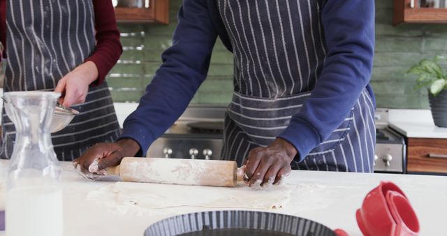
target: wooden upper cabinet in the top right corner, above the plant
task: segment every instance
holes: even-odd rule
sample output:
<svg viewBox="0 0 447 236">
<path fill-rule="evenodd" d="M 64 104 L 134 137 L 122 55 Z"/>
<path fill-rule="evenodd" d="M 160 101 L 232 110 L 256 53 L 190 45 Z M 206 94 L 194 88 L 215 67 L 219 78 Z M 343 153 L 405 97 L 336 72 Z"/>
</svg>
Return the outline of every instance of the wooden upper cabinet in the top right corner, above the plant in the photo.
<svg viewBox="0 0 447 236">
<path fill-rule="evenodd" d="M 447 0 L 394 0 L 394 24 L 447 23 Z"/>
</svg>

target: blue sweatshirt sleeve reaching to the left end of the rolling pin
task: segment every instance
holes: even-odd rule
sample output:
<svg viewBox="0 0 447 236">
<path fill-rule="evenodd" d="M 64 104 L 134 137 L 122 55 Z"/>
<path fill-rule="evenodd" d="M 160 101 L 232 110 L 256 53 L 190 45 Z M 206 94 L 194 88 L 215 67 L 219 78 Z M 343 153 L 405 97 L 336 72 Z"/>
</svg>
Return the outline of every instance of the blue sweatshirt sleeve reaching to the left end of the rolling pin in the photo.
<svg viewBox="0 0 447 236">
<path fill-rule="evenodd" d="M 205 80 L 217 31 L 206 0 L 184 0 L 178 13 L 173 46 L 163 52 L 163 64 L 140 98 L 137 110 L 126 118 L 119 139 L 131 138 L 145 154 L 186 109 Z"/>
</svg>

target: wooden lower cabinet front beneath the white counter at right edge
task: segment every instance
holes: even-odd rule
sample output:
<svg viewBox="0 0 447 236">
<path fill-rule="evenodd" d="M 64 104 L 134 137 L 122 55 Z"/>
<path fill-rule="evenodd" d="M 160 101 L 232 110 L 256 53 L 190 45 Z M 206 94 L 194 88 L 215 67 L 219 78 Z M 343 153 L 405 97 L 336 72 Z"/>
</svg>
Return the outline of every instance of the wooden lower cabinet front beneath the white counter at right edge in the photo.
<svg viewBox="0 0 447 236">
<path fill-rule="evenodd" d="M 447 174 L 447 140 L 409 138 L 406 171 Z"/>
</svg>

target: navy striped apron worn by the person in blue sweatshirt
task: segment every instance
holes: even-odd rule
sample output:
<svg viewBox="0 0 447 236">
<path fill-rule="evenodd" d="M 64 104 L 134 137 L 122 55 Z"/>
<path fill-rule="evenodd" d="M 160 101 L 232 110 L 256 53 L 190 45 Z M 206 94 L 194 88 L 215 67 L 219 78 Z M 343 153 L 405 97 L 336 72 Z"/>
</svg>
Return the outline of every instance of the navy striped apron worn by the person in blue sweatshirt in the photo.
<svg viewBox="0 0 447 236">
<path fill-rule="evenodd" d="M 222 157 L 244 163 L 284 131 L 312 94 L 328 53 L 316 0 L 218 0 L 235 59 Z M 297 133 L 297 135 L 299 135 Z M 372 172 L 374 105 L 364 89 L 342 124 L 293 169 Z"/>
</svg>

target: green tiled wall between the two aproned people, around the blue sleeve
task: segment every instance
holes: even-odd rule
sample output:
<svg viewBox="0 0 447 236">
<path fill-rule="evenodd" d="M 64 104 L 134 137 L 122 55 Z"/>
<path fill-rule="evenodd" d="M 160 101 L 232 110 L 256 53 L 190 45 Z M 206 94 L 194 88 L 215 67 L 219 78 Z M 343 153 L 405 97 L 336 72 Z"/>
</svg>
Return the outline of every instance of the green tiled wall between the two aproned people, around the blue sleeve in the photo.
<svg viewBox="0 0 447 236">
<path fill-rule="evenodd" d="M 170 0 L 170 24 L 119 24 L 123 54 L 108 75 L 114 101 L 138 101 L 157 68 L 161 53 L 171 45 L 182 0 Z M 191 103 L 228 104 L 233 91 L 233 54 L 218 40 L 208 78 Z"/>
</svg>

